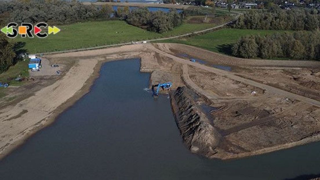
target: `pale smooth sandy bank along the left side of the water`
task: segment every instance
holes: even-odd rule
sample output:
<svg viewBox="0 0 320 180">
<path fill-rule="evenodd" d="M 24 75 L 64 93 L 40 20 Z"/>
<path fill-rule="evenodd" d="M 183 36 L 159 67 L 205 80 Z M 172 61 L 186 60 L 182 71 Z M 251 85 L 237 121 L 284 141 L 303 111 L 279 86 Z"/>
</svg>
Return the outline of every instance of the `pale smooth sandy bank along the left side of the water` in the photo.
<svg viewBox="0 0 320 180">
<path fill-rule="evenodd" d="M 61 80 L 14 106 L 0 110 L 0 158 L 35 129 L 46 125 L 54 110 L 79 93 L 93 74 L 97 62 L 97 59 L 80 60 Z"/>
</svg>

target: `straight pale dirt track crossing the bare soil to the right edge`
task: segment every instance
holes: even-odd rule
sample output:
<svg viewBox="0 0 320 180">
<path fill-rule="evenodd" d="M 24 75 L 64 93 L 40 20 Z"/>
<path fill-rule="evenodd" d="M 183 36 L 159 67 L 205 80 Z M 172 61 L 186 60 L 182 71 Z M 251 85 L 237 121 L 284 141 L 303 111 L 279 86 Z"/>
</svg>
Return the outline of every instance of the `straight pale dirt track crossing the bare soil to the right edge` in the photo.
<svg viewBox="0 0 320 180">
<path fill-rule="evenodd" d="M 265 89 L 268 93 L 278 94 L 278 95 L 281 95 L 281 96 L 286 97 L 286 98 L 296 99 L 298 101 L 305 102 L 305 103 L 308 103 L 310 105 L 320 107 L 320 102 L 319 101 L 316 101 L 316 100 L 313 100 L 313 99 L 310 99 L 310 98 L 307 98 L 307 97 L 304 97 L 304 96 L 301 96 L 301 95 L 298 95 L 298 94 L 294 94 L 294 93 L 291 93 L 291 92 L 288 92 L 288 91 L 284 91 L 284 90 L 278 89 L 276 87 L 268 86 L 266 84 L 258 83 L 256 81 L 253 81 L 253 80 L 250 80 L 250 79 L 246 79 L 246 78 L 242 78 L 242 77 L 236 76 L 233 72 L 220 70 L 220 69 L 213 68 L 213 67 L 208 67 L 208 66 L 205 66 L 205 65 L 202 65 L 202 64 L 199 64 L 199 63 L 194 63 L 194 62 L 191 62 L 191 61 L 176 57 L 176 56 L 174 56 L 172 54 L 165 53 L 165 52 L 157 49 L 154 46 L 153 46 L 152 49 L 155 52 L 157 52 L 159 54 L 162 54 L 164 56 L 167 56 L 167 57 L 171 58 L 172 60 L 180 62 L 182 64 L 191 65 L 191 66 L 194 66 L 196 68 L 200 68 L 202 70 L 206 70 L 208 72 L 212 72 L 212 73 L 215 73 L 215 74 L 218 74 L 218 75 L 221 75 L 221 76 L 224 76 L 224 77 L 227 77 L 227 78 L 242 82 L 244 84 L 248 84 L 248 85 L 251 85 L 251 86 L 259 87 L 261 89 Z M 211 96 L 209 96 L 209 98 L 210 97 Z M 214 96 L 213 96 L 213 98 L 214 98 Z"/>
</svg>

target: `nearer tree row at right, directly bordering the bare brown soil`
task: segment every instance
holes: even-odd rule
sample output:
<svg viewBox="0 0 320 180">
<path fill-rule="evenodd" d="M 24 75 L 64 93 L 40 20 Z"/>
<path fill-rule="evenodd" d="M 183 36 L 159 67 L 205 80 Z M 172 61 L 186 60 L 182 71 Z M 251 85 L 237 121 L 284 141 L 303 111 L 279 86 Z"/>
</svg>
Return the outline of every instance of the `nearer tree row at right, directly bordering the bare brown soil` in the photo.
<svg viewBox="0 0 320 180">
<path fill-rule="evenodd" d="M 242 58 L 320 60 L 320 31 L 241 37 L 232 46 L 232 55 Z"/>
</svg>

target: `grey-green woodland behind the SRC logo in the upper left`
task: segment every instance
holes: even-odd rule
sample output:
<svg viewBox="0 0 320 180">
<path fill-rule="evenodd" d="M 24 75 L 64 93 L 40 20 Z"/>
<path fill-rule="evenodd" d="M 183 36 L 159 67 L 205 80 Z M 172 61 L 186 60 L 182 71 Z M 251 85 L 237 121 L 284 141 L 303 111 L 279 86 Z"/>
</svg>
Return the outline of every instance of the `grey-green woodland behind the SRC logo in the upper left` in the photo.
<svg viewBox="0 0 320 180">
<path fill-rule="evenodd" d="M 10 13 L 10 19 L 8 20 L 16 23 L 49 22 L 52 24 L 67 24 L 108 18 L 112 13 L 112 7 L 110 10 L 75 1 L 13 0 L 0 2 L 0 14 L 5 12 Z"/>
</svg>

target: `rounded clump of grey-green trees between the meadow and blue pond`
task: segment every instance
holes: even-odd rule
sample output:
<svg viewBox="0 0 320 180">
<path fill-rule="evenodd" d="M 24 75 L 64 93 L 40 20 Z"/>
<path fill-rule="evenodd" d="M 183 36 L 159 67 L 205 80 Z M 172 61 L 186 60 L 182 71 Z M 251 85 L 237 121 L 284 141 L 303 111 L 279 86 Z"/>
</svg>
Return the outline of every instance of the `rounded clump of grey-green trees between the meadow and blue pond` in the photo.
<svg viewBox="0 0 320 180">
<path fill-rule="evenodd" d="M 124 20 L 137 26 L 158 33 L 167 32 L 182 24 L 182 17 L 176 10 L 170 12 L 150 12 L 148 8 L 135 8 L 126 14 Z"/>
</svg>

